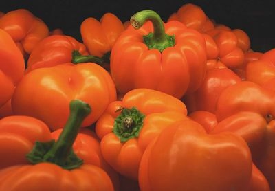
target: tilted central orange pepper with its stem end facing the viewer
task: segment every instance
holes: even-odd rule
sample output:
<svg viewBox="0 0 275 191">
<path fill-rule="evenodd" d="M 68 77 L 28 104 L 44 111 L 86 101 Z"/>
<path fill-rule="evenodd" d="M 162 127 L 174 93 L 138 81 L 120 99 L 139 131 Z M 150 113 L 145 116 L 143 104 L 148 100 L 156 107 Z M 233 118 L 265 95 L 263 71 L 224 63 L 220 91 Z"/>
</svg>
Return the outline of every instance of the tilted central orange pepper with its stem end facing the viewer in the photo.
<svg viewBox="0 0 275 191">
<path fill-rule="evenodd" d="M 152 89 L 129 91 L 122 101 L 109 104 L 96 123 L 104 159 L 120 174 L 137 180 L 145 148 L 186 113 L 184 103 L 166 93 Z"/>
</svg>

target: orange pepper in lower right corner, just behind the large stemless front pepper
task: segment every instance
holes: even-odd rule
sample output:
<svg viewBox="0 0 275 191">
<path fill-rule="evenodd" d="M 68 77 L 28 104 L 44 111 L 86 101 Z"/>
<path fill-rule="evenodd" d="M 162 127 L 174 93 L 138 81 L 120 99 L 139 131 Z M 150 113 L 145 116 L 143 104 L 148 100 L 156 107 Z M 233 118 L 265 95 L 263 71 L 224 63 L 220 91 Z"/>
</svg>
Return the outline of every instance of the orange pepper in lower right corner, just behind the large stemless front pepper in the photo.
<svg viewBox="0 0 275 191">
<path fill-rule="evenodd" d="M 267 124 L 267 120 L 259 113 L 240 111 L 239 113 L 221 120 L 221 122 L 212 128 L 210 134 L 219 134 L 225 131 L 239 135 L 247 142 L 254 163 L 267 178 L 271 190 L 274 190 L 275 120 Z M 261 179 L 256 181 L 258 183 L 254 185 L 258 189 L 261 188 L 257 186 L 259 183 L 260 185 L 261 183 L 266 184 L 265 178 L 262 177 Z M 269 186 L 263 186 L 261 189 L 265 190 L 264 188 L 267 189 Z"/>
</svg>

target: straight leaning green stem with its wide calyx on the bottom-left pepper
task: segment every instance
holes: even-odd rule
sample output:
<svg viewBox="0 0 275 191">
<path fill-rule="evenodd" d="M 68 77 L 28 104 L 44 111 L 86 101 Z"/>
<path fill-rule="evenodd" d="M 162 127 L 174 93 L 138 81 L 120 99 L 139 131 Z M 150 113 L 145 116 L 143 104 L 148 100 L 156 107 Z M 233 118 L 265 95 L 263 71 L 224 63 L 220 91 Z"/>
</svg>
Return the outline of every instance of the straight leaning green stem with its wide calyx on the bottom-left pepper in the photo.
<svg viewBox="0 0 275 191">
<path fill-rule="evenodd" d="M 72 146 L 83 120 L 91 112 L 89 104 L 72 100 L 69 104 L 70 115 L 56 142 L 36 142 L 33 150 L 26 156 L 33 164 L 51 162 L 65 169 L 77 168 L 83 164 L 73 152 Z"/>
</svg>

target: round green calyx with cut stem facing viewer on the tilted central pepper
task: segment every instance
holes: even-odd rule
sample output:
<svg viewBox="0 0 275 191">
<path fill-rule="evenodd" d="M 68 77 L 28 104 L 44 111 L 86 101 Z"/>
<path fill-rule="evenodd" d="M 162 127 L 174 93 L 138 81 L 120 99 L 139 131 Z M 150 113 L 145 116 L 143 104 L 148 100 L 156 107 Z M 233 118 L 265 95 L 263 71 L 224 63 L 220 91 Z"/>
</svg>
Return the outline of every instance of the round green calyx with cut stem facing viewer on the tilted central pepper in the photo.
<svg viewBox="0 0 275 191">
<path fill-rule="evenodd" d="M 120 142 L 126 142 L 131 138 L 138 137 L 143 126 L 145 115 L 135 107 L 123 108 L 120 115 L 115 118 L 113 133 L 120 138 Z"/>
</svg>

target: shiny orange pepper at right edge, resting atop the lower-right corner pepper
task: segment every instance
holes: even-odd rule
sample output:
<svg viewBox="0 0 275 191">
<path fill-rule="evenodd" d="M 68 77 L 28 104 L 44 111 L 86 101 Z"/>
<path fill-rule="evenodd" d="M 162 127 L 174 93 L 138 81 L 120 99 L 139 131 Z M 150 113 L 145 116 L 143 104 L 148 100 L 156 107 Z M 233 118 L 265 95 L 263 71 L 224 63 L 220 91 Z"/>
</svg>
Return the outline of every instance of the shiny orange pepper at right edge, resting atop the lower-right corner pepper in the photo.
<svg viewBox="0 0 275 191">
<path fill-rule="evenodd" d="M 249 81 L 241 81 L 224 89 L 214 112 L 218 122 L 240 111 L 259 113 L 270 122 L 275 117 L 272 93 Z"/>
</svg>

